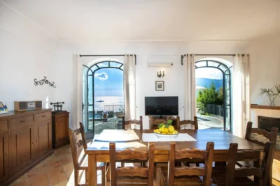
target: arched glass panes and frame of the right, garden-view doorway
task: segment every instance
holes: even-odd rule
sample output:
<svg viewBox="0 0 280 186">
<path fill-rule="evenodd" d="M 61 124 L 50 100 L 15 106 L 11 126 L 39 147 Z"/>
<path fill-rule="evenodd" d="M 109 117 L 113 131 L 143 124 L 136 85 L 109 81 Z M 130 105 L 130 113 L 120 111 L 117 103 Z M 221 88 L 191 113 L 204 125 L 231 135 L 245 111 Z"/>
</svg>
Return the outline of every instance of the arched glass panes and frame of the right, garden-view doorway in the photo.
<svg viewBox="0 0 280 186">
<path fill-rule="evenodd" d="M 214 60 L 201 60 L 195 62 L 195 69 L 214 68 L 223 75 L 223 130 L 232 131 L 232 108 L 231 108 L 231 74 L 232 66 Z M 202 87 L 204 88 L 204 87 Z M 209 109 L 209 108 L 208 108 Z"/>
</svg>

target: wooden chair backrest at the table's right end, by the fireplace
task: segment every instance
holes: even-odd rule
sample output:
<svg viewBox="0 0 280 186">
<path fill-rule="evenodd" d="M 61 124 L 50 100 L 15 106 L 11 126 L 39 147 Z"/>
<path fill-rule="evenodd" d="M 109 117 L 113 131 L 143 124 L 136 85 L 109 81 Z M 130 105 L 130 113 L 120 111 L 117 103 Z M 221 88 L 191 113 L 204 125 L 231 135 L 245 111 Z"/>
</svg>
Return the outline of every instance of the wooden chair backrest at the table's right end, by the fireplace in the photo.
<svg viewBox="0 0 280 186">
<path fill-rule="evenodd" d="M 248 122 L 246 127 L 245 139 L 255 144 L 265 146 L 266 142 L 272 141 L 276 143 L 278 128 L 272 127 L 271 132 L 260 128 L 252 128 L 253 123 Z"/>
</svg>

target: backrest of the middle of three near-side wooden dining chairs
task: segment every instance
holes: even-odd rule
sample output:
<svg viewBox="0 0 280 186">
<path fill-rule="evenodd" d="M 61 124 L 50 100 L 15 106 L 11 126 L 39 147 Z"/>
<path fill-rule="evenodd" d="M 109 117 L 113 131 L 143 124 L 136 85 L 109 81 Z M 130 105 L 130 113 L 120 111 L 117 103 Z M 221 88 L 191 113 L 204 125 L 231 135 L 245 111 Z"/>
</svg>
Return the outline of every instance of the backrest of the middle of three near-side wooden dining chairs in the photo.
<svg viewBox="0 0 280 186">
<path fill-rule="evenodd" d="M 176 150 L 175 143 L 170 144 L 168 163 L 168 185 L 174 185 L 177 176 L 203 176 L 204 185 L 211 185 L 214 142 L 208 142 L 206 150 Z M 175 167 L 176 161 L 195 158 L 204 162 L 204 167 Z"/>
</svg>

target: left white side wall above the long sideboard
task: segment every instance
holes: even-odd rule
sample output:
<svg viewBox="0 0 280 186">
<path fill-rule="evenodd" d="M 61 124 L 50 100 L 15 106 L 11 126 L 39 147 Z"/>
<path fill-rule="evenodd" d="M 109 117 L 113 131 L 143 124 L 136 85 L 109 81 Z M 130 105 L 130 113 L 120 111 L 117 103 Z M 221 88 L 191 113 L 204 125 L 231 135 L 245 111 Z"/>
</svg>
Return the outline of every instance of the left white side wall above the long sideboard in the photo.
<svg viewBox="0 0 280 186">
<path fill-rule="evenodd" d="M 43 107 L 55 101 L 55 88 L 34 85 L 43 76 L 57 83 L 54 46 L 52 37 L 0 2 L 0 100 L 9 110 L 17 100 L 42 100 Z"/>
</svg>

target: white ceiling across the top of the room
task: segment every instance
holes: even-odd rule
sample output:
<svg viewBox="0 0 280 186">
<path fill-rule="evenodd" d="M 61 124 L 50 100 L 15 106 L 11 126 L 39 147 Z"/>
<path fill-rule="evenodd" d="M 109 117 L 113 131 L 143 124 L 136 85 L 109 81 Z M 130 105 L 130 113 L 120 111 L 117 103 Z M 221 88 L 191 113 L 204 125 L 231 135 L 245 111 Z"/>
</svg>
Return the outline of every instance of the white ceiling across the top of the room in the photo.
<svg viewBox="0 0 280 186">
<path fill-rule="evenodd" d="M 251 40 L 280 30 L 279 0 L 3 0 L 60 41 Z"/>
</svg>

